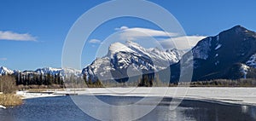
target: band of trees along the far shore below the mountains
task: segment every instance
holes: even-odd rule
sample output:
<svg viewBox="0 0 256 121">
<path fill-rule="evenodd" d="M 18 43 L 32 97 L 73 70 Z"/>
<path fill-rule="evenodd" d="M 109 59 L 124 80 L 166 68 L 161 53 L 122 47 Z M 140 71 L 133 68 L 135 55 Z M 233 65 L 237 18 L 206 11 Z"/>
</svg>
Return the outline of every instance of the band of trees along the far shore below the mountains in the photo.
<svg viewBox="0 0 256 121">
<path fill-rule="evenodd" d="M 4 77 L 5 76 L 1 76 Z M 144 74 L 137 77 L 121 78 L 115 80 L 100 80 L 86 75 L 78 77 L 69 75 L 63 77 L 60 74 L 38 74 L 35 72 L 19 72 L 9 77 L 14 78 L 15 84 L 19 89 L 46 89 L 46 88 L 102 88 L 102 87 L 255 87 L 256 78 L 247 79 L 214 79 L 207 81 L 188 82 L 188 83 L 169 83 L 160 80 L 159 75 Z M 3 86 L 3 84 L 0 84 Z"/>
</svg>

